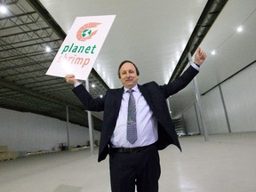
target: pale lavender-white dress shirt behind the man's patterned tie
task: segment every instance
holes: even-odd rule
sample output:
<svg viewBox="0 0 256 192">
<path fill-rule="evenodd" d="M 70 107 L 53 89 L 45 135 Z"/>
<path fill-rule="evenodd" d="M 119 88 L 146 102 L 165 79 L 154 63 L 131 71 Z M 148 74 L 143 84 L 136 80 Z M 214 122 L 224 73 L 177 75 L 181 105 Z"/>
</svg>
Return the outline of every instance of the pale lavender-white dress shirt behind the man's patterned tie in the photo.
<svg viewBox="0 0 256 192">
<path fill-rule="evenodd" d="M 133 97 L 136 102 L 136 124 L 137 140 L 131 144 L 126 140 L 127 115 L 128 115 L 128 89 L 124 88 L 123 99 L 119 115 L 116 121 L 115 131 L 111 138 L 113 148 L 135 148 L 148 146 L 158 139 L 156 117 L 148 106 L 147 101 L 142 96 L 138 86 L 132 88 Z"/>
</svg>

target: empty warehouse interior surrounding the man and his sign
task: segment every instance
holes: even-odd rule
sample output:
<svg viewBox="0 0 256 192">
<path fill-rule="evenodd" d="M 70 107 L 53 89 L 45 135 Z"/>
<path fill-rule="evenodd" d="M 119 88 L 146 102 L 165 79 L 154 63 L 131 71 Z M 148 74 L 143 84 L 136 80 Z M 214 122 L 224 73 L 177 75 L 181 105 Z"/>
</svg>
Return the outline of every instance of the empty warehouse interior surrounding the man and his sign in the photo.
<svg viewBox="0 0 256 192">
<path fill-rule="evenodd" d="M 108 160 L 97 163 L 102 113 L 92 153 L 72 85 L 45 75 L 76 17 L 99 15 L 116 19 L 88 77 L 93 97 L 122 86 L 123 60 L 139 84 L 167 84 L 189 53 L 207 52 L 196 81 L 167 100 L 183 152 L 160 151 L 160 191 L 255 191 L 254 0 L 0 0 L 0 191 L 110 191 Z"/>
</svg>

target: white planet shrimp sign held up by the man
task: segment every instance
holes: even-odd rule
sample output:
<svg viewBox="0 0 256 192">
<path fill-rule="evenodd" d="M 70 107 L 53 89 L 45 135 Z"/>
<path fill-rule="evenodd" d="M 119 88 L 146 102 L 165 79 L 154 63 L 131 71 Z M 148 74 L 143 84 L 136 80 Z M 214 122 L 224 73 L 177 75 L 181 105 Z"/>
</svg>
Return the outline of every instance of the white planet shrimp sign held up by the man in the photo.
<svg viewBox="0 0 256 192">
<path fill-rule="evenodd" d="M 116 15 L 77 17 L 46 75 L 86 80 Z"/>
</svg>

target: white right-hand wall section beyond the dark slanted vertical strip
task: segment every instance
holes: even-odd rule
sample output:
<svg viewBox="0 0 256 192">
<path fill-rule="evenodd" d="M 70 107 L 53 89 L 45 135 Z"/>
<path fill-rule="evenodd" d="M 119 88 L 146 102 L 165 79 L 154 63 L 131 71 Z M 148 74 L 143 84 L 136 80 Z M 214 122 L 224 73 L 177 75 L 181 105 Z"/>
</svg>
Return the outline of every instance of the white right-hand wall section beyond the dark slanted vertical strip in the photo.
<svg viewBox="0 0 256 192">
<path fill-rule="evenodd" d="M 256 131 L 256 62 L 221 88 L 231 132 Z"/>
</svg>

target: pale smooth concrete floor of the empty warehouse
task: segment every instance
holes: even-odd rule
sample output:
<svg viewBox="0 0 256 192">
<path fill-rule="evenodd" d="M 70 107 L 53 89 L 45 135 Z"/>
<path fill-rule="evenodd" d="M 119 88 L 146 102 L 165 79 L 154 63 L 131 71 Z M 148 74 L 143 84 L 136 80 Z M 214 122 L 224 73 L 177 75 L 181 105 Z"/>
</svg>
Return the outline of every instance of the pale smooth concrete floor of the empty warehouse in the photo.
<svg viewBox="0 0 256 192">
<path fill-rule="evenodd" d="M 256 132 L 180 138 L 160 151 L 159 192 L 255 192 Z M 95 148 L 96 153 L 98 148 Z M 108 192 L 108 159 L 90 150 L 0 162 L 0 192 Z"/>
</svg>

